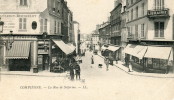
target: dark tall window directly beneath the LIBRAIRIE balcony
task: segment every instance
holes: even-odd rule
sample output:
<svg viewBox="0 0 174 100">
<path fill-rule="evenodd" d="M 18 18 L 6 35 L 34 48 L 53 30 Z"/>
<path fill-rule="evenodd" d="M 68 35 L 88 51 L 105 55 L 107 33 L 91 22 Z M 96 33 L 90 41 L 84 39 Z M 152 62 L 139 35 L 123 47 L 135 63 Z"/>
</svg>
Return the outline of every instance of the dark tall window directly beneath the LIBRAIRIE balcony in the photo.
<svg viewBox="0 0 174 100">
<path fill-rule="evenodd" d="M 155 22 L 155 37 L 164 37 L 164 22 Z"/>
</svg>

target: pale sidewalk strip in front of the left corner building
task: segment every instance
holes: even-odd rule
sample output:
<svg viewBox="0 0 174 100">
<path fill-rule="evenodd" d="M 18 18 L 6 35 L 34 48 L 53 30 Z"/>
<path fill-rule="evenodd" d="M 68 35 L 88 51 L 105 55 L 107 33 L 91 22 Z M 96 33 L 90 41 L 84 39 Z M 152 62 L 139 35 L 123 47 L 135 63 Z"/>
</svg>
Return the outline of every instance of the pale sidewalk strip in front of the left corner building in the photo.
<svg viewBox="0 0 174 100">
<path fill-rule="evenodd" d="M 1 75 L 21 75 L 21 76 L 38 76 L 38 77 L 66 77 L 69 75 L 68 72 L 64 73 L 53 73 L 49 71 L 41 71 L 33 73 L 31 71 L 1 71 Z"/>
</svg>

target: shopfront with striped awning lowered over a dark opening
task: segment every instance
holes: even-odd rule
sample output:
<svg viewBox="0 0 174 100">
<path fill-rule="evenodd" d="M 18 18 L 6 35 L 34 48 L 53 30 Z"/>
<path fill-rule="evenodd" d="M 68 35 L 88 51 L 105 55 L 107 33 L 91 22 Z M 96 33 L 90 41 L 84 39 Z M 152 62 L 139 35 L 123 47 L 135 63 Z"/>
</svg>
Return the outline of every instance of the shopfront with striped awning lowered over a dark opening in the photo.
<svg viewBox="0 0 174 100">
<path fill-rule="evenodd" d="M 6 52 L 9 71 L 30 71 L 31 41 L 14 41 L 12 48 Z"/>
</svg>

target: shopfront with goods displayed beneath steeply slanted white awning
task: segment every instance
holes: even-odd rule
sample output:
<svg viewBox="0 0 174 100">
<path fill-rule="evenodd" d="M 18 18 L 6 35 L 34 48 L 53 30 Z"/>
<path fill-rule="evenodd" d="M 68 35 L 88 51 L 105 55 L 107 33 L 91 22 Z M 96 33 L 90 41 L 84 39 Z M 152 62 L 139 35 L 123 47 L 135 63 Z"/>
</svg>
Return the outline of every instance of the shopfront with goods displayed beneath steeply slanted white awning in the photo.
<svg viewBox="0 0 174 100">
<path fill-rule="evenodd" d="M 51 69 L 54 71 L 54 63 L 57 61 L 64 70 L 68 70 L 69 62 L 75 56 L 75 47 L 65 44 L 62 40 L 52 40 Z"/>
</svg>

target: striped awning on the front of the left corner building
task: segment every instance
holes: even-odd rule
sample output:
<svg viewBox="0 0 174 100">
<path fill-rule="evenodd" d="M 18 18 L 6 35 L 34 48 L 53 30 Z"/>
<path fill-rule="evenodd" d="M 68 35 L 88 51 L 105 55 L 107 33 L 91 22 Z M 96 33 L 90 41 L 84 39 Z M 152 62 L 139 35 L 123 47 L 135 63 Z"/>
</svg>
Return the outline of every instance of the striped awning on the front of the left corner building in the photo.
<svg viewBox="0 0 174 100">
<path fill-rule="evenodd" d="M 6 59 L 28 59 L 30 41 L 14 41 L 12 48 L 7 50 Z"/>
</svg>

